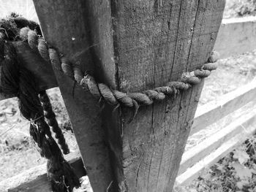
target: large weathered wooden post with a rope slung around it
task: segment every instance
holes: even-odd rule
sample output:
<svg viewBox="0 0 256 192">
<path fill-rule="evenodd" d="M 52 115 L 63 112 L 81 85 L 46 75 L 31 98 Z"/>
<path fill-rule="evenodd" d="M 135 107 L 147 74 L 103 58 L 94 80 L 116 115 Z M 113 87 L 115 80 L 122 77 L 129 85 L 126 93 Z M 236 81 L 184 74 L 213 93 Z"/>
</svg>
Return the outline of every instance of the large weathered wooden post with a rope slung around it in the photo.
<svg viewBox="0 0 256 192">
<path fill-rule="evenodd" d="M 180 80 L 183 72 L 202 66 L 214 47 L 225 0 L 34 4 L 50 45 L 97 80 L 131 93 Z M 106 106 L 101 118 L 98 101 L 80 88 L 72 97 L 72 81 L 55 72 L 94 191 L 172 191 L 203 83 L 140 107 L 128 124 L 129 110 Z"/>
</svg>

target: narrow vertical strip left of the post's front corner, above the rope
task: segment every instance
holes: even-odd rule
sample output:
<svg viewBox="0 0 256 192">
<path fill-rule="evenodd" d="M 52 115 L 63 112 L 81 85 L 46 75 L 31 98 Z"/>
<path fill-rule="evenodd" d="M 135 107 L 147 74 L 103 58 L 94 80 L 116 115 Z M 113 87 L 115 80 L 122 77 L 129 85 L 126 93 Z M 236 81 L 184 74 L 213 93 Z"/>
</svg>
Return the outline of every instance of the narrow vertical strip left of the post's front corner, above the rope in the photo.
<svg viewBox="0 0 256 192">
<path fill-rule="evenodd" d="M 111 88 L 116 84 L 116 66 L 113 53 L 113 28 L 109 0 L 85 1 L 86 18 L 89 23 L 91 55 L 98 82 Z"/>
</svg>

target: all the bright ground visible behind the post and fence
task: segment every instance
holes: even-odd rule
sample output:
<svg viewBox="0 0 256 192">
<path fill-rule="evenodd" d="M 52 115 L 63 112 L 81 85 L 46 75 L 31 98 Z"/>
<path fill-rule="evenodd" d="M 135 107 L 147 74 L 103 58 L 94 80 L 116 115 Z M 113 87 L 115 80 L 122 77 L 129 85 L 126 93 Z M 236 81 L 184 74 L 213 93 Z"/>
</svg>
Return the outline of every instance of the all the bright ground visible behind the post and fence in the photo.
<svg viewBox="0 0 256 192">
<path fill-rule="evenodd" d="M 0 9 L 5 7 L 3 10 L 13 11 L 15 6 L 10 7 L 10 3 L 7 2 L 12 2 L 12 5 L 19 4 L 19 7 L 24 8 L 20 9 L 23 15 L 26 14 L 24 16 L 37 20 L 31 0 L 23 1 L 26 2 L 25 6 L 20 4 L 20 0 L 0 0 Z M 224 17 L 255 15 L 254 3 L 249 0 L 228 0 Z M 1 12 L 0 16 L 3 14 L 7 15 L 7 11 Z M 206 79 L 200 105 L 245 85 L 255 77 L 256 51 L 219 61 L 217 71 Z M 51 89 L 48 93 L 60 126 L 66 125 L 67 111 L 59 89 Z M 216 127 L 208 128 L 207 131 L 201 131 L 195 137 L 190 137 L 186 150 L 218 130 Z M 77 150 L 78 146 L 72 132 L 64 129 L 64 134 L 71 151 Z M 249 138 L 244 145 L 204 172 L 188 188 L 177 188 L 177 191 L 256 191 L 255 141 L 254 137 Z M 17 99 L 0 101 L 0 181 L 44 163 L 45 159 L 40 158 L 29 137 L 29 122 L 20 116 Z"/>
</svg>

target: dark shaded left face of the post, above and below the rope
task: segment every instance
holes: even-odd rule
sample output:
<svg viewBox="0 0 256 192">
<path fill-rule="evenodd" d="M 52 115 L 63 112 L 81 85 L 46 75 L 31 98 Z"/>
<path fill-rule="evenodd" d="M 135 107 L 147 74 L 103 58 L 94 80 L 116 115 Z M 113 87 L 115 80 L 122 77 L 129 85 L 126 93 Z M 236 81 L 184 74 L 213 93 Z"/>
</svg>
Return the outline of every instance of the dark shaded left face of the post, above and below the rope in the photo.
<svg viewBox="0 0 256 192">
<path fill-rule="evenodd" d="M 34 0 L 46 41 L 58 47 L 83 72 L 94 71 L 86 31 L 85 1 Z M 53 69 L 75 132 L 80 153 L 94 191 L 105 191 L 112 180 L 105 130 L 101 127 L 98 101 L 62 72 Z"/>
</svg>

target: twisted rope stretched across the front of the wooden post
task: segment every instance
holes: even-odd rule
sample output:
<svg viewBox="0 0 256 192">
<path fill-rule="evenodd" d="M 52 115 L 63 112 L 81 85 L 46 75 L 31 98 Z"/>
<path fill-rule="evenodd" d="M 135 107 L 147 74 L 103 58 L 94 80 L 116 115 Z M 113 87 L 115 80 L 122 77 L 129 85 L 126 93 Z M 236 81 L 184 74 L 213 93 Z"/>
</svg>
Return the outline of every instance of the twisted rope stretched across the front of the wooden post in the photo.
<svg viewBox="0 0 256 192">
<path fill-rule="evenodd" d="M 217 69 L 216 61 L 219 58 L 219 54 L 213 51 L 208 58 L 207 64 L 193 72 L 182 74 L 179 82 L 168 82 L 165 86 L 142 91 L 141 93 L 122 93 L 109 88 L 104 83 L 97 82 L 90 74 L 84 74 L 79 66 L 73 65 L 68 58 L 63 54 L 59 54 L 53 47 L 48 47 L 45 40 L 42 37 L 38 37 L 37 33 L 30 28 L 21 28 L 20 38 L 23 41 L 27 40 L 31 49 L 38 50 L 45 61 L 50 60 L 55 69 L 64 72 L 72 80 L 75 80 L 78 85 L 81 85 L 84 90 L 89 89 L 96 99 L 104 99 L 108 104 L 116 106 L 115 109 L 119 106 L 133 107 L 135 109 L 134 116 L 138 112 L 140 105 L 151 105 L 154 101 L 163 100 L 166 96 L 176 95 L 179 91 L 187 90 L 192 85 L 200 83 L 203 78 L 211 74 L 211 71 Z"/>
</svg>

